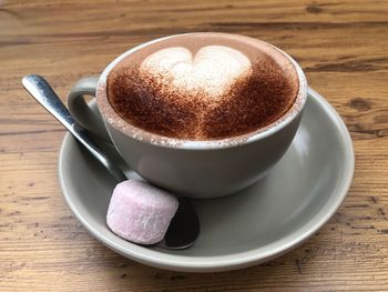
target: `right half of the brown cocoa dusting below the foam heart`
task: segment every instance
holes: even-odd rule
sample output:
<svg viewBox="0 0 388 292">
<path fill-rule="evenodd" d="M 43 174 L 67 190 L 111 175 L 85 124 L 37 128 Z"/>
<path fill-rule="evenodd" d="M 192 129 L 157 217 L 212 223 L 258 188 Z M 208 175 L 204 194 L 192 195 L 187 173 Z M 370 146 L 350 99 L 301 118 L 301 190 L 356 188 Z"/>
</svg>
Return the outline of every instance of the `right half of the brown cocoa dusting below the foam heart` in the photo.
<svg viewBox="0 0 388 292">
<path fill-rule="evenodd" d="M 224 139 L 264 128 L 292 108 L 297 91 L 278 68 L 262 61 L 205 115 L 203 132 L 206 139 Z"/>
</svg>

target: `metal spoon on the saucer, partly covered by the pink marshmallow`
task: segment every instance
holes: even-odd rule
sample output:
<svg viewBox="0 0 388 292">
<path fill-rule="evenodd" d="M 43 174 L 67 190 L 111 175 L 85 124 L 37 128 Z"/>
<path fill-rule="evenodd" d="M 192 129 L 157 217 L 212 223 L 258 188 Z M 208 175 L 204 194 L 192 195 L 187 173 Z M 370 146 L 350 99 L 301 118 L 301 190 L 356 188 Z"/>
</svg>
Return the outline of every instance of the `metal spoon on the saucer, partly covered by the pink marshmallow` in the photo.
<svg viewBox="0 0 388 292">
<path fill-rule="evenodd" d="M 25 90 L 62 123 L 64 128 L 106 168 L 112 177 L 119 182 L 127 179 L 123 171 L 112 162 L 106 153 L 101 151 L 99 144 L 93 140 L 92 134 L 73 119 L 57 93 L 42 77 L 35 74 L 25 75 L 22 83 Z M 155 244 L 159 248 L 169 250 L 186 249 L 194 244 L 200 234 L 200 221 L 194 209 L 187 200 L 178 198 L 178 210 L 171 221 L 164 240 Z"/>
</svg>

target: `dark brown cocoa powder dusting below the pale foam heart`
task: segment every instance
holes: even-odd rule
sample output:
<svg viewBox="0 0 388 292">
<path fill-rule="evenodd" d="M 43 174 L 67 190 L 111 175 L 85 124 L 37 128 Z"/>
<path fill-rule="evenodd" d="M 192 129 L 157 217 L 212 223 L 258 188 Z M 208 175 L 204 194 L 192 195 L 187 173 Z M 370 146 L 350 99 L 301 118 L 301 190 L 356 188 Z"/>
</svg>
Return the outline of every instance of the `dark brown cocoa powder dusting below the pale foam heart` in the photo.
<svg viewBox="0 0 388 292">
<path fill-rule="evenodd" d="M 109 102 L 134 127 L 188 140 L 225 139 L 261 129 L 284 115 L 298 92 L 297 80 L 287 79 L 268 59 L 253 62 L 252 73 L 216 99 L 182 92 L 160 80 L 136 68 L 121 69 L 108 78 Z"/>
</svg>

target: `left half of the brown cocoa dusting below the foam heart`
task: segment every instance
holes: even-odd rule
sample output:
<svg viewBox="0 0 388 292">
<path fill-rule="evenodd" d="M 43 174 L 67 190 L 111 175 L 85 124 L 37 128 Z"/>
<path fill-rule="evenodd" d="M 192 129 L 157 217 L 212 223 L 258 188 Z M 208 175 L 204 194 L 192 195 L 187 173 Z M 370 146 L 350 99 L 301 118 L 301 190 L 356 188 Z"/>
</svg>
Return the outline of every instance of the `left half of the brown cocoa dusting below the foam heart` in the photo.
<svg viewBox="0 0 388 292">
<path fill-rule="evenodd" d="M 115 112 L 129 123 L 165 137 L 195 135 L 201 103 L 180 99 L 174 89 L 157 80 L 141 77 L 139 70 L 122 70 L 109 79 L 109 101 Z"/>
</svg>

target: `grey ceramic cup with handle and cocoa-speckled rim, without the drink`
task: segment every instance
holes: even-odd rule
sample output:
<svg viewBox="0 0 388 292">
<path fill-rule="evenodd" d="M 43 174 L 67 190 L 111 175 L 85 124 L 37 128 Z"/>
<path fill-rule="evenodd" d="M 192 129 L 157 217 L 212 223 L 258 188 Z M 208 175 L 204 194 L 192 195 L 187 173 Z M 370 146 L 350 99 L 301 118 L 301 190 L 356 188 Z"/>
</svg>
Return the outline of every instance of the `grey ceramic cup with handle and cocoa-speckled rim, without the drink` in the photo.
<svg viewBox="0 0 388 292">
<path fill-rule="evenodd" d="M 275 48 L 295 66 L 299 82 L 296 100 L 292 109 L 276 122 L 244 135 L 190 141 L 161 137 L 139 128 L 133 132 L 122 131 L 116 127 L 118 121 L 127 122 L 114 113 L 106 99 L 109 72 L 131 53 L 178 36 L 137 46 L 118 57 L 99 78 L 80 80 L 69 93 L 69 110 L 92 133 L 112 141 L 131 169 L 155 185 L 198 199 L 238 192 L 263 178 L 290 145 L 307 99 L 305 74 L 294 59 Z M 90 110 L 84 94 L 96 97 L 101 115 Z M 106 118 L 106 111 L 110 112 L 109 117 L 115 114 L 115 122 Z"/>
</svg>

